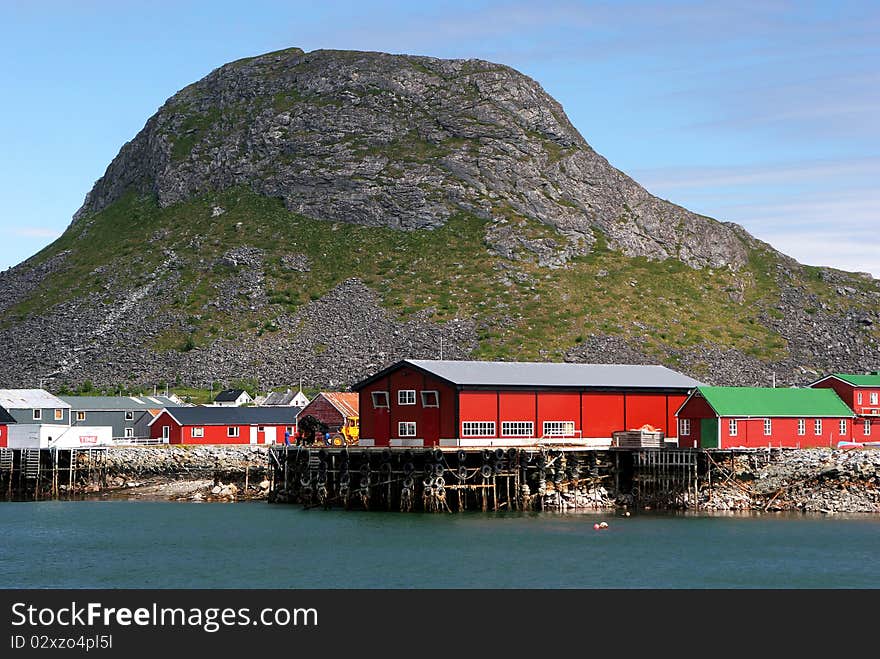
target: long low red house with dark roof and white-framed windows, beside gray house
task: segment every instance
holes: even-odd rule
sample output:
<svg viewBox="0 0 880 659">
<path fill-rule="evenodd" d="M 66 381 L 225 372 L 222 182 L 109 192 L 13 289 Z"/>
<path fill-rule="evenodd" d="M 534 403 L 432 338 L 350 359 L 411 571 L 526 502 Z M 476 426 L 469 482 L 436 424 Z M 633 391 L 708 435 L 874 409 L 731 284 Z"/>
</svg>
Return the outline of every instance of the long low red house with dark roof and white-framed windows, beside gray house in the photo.
<svg viewBox="0 0 880 659">
<path fill-rule="evenodd" d="M 166 407 L 150 437 L 166 444 L 283 444 L 296 432 L 298 407 Z M 291 443 L 293 439 L 291 439 Z"/>
</svg>

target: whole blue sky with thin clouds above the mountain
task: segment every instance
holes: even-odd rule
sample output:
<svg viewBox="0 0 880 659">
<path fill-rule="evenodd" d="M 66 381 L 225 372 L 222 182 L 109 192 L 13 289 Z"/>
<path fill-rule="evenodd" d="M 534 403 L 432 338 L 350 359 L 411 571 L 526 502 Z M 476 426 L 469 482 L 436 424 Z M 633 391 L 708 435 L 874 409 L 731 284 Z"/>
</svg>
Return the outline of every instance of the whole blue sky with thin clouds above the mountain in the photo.
<svg viewBox="0 0 880 659">
<path fill-rule="evenodd" d="M 0 270 L 221 64 L 299 46 L 535 78 L 654 194 L 880 277 L 880 3 L 0 0 Z"/>
</svg>

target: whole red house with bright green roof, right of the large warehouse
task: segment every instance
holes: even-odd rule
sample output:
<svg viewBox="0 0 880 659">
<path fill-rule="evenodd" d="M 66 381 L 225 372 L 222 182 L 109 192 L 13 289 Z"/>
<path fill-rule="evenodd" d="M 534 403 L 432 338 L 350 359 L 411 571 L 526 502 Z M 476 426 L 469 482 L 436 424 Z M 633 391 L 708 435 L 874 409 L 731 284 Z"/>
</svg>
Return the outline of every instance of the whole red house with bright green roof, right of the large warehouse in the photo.
<svg viewBox="0 0 880 659">
<path fill-rule="evenodd" d="M 809 448 L 852 437 L 852 411 L 821 389 L 698 387 L 677 416 L 678 445 L 690 448 Z"/>
</svg>

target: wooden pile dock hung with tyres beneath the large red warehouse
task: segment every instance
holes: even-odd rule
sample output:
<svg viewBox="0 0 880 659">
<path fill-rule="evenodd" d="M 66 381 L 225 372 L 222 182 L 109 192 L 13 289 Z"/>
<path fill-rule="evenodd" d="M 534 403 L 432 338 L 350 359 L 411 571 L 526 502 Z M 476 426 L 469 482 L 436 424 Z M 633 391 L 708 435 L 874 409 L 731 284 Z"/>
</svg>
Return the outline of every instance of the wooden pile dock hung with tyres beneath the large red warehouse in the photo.
<svg viewBox="0 0 880 659">
<path fill-rule="evenodd" d="M 306 507 L 460 512 L 566 509 L 597 487 L 634 507 L 696 502 L 704 453 L 693 449 L 313 448 L 269 453 L 269 501 Z M 694 496 L 691 496 L 694 495 Z M 588 508 L 588 505 L 582 506 Z"/>
</svg>

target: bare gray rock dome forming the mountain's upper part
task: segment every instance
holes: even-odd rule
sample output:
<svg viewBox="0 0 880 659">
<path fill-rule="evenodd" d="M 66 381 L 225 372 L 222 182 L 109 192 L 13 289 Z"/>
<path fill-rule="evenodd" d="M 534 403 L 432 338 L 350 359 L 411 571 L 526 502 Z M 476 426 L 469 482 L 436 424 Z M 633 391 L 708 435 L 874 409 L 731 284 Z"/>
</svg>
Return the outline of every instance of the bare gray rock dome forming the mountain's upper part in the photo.
<svg viewBox="0 0 880 659">
<path fill-rule="evenodd" d="M 650 195 L 509 67 L 299 49 L 227 64 L 174 95 L 74 221 L 132 188 L 168 206 L 239 184 L 304 215 L 370 226 L 512 212 L 586 248 L 599 230 L 628 256 L 697 268 L 739 268 L 750 241 L 736 225 Z"/>
</svg>

